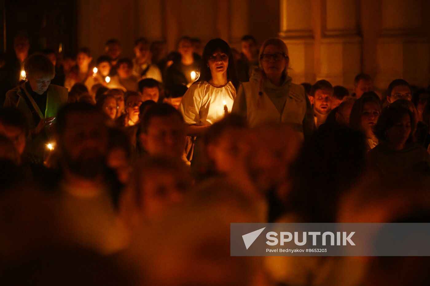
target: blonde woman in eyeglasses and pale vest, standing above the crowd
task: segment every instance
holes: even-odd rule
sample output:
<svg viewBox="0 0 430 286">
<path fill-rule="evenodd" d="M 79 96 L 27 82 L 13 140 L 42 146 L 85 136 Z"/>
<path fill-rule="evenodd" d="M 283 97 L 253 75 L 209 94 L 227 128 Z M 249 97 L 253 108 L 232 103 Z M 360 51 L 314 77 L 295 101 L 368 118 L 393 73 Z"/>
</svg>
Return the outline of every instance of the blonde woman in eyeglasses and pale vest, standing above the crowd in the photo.
<svg viewBox="0 0 430 286">
<path fill-rule="evenodd" d="M 266 40 L 260 49 L 260 67 L 243 82 L 233 113 L 246 118 L 250 127 L 286 123 L 308 138 L 315 128 L 313 110 L 302 85 L 288 76 L 288 49 L 282 40 Z"/>
</svg>

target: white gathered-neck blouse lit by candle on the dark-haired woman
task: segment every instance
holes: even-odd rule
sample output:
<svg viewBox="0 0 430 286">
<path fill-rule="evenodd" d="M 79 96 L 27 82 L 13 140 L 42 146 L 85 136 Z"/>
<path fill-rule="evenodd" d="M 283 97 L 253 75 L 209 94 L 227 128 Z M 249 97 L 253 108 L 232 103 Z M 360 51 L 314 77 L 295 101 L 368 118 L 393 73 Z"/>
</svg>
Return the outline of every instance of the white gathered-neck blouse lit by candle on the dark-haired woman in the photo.
<svg viewBox="0 0 430 286">
<path fill-rule="evenodd" d="M 215 87 L 209 82 L 195 83 L 188 88 L 179 104 L 179 112 L 190 125 L 212 125 L 224 118 L 224 101 L 231 112 L 236 89 L 231 82 Z"/>
</svg>

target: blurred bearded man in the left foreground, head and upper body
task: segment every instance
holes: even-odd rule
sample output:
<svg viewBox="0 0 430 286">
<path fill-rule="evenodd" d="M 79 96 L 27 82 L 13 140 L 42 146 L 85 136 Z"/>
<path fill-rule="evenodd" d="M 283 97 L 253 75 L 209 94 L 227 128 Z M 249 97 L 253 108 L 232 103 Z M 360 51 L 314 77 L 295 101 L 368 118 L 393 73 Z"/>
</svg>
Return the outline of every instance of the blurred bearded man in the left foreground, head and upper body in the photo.
<svg viewBox="0 0 430 286">
<path fill-rule="evenodd" d="M 109 254 L 124 243 L 114 206 L 120 184 L 107 169 L 105 116 L 88 103 L 69 103 L 58 113 L 58 205 L 68 240 Z"/>
</svg>

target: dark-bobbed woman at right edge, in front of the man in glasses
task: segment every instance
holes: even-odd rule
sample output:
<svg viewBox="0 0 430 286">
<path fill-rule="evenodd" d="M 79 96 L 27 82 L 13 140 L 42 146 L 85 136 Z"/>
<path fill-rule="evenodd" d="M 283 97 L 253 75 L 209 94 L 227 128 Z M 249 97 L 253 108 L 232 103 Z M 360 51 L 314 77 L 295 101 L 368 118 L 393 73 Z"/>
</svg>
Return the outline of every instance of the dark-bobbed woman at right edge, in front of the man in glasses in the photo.
<svg viewBox="0 0 430 286">
<path fill-rule="evenodd" d="M 430 155 L 413 140 L 414 114 L 402 104 L 385 107 L 375 125 L 378 146 L 369 151 L 371 164 L 382 176 L 430 171 Z"/>
</svg>

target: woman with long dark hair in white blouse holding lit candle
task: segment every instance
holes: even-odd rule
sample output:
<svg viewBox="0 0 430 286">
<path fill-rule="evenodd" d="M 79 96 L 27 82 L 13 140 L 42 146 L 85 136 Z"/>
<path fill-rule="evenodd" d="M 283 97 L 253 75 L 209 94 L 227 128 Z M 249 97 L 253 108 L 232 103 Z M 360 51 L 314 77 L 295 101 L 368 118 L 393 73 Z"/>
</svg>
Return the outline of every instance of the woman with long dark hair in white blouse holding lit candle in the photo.
<svg viewBox="0 0 430 286">
<path fill-rule="evenodd" d="M 197 80 L 182 97 L 178 110 L 190 136 L 200 136 L 231 111 L 236 97 L 236 73 L 230 46 L 221 39 L 210 40 L 203 50 Z"/>
</svg>

